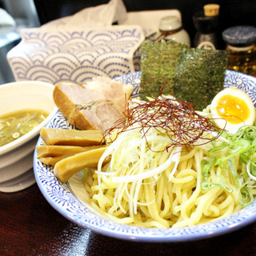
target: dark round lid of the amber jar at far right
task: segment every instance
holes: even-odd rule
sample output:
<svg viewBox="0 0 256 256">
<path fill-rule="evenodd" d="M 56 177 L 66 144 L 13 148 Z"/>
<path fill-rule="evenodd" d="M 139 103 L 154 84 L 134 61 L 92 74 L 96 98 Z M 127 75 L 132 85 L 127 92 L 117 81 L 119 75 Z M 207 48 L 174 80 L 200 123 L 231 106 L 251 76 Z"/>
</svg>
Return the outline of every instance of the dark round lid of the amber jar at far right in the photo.
<svg viewBox="0 0 256 256">
<path fill-rule="evenodd" d="M 222 32 L 222 38 L 233 45 L 248 45 L 256 41 L 256 27 L 232 26 Z"/>
</svg>

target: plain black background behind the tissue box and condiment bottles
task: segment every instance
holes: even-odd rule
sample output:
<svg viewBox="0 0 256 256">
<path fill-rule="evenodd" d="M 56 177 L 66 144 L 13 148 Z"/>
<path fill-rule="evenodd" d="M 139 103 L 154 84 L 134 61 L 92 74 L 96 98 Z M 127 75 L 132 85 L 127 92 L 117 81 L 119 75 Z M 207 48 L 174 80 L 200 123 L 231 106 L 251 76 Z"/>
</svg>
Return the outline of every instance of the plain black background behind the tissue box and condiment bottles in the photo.
<svg viewBox="0 0 256 256">
<path fill-rule="evenodd" d="M 109 0 L 34 0 L 34 5 L 38 11 L 40 22 L 44 24 L 56 18 L 75 14 L 78 10 L 82 10 L 83 8 L 98 6 L 107 2 L 109 2 Z M 209 3 L 217 3 L 220 5 L 220 25 L 218 28 L 220 32 L 230 26 L 256 26 L 256 4 L 254 0 L 123 0 L 123 2 L 127 11 L 179 10 L 182 14 L 184 29 L 190 34 L 191 39 L 193 39 L 196 34 L 192 16 L 198 12 L 198 10 L 202 10 L 204 5 Z M 222 48 L 225 48 L 224 42 L 222 43 Z"/>
</svg>

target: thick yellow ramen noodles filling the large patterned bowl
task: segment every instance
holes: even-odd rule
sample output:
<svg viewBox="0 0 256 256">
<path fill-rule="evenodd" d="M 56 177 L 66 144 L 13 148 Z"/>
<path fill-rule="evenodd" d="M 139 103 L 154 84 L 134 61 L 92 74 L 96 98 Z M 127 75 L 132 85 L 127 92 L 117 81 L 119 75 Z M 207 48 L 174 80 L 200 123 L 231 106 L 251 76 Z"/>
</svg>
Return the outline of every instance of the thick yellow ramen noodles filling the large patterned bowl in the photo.
<svg viewBox="0 0 256 256">
<path fill-rule="evenodd" d="M 106 170 L 102 170 L 100 178 L 98 172 L 84 171 L 83 182 L 90 195 L 89 204 L 110 220 L 144 227 L 192 226 L 229 216 L 242 208 L 239 205 L 241 188 L 235 186 L 230 168 L 212 166 L 209 174 L 211 188 L 201 186 L 202 160 L 210 161 L 213 156 L 208 152 L 210 147 L 210 143 L 193 149 L 182 147 L 174 175 L 171 174 L 174 162 L 160 174 L 134 182 L 129 182 L 133 167 L 113 167 L 114 173 L 106 175 L 111 162 L 104 167 Z M 128 150 L 128 146 L 123 145 L 123 148 Z M 144 150 L 145 159 L 154 159 L 154 167 L 161 166 L 171 154 L 166 150 L 152 152 L 146 150 L 146 146 Z M 118 156 L 122 158 L 123 154 L 120 152 Z M 126 159 L 120 161 L 126 162 Z M 239 156 L 232 158 L 232 162 L 236 173 L 246 173 L 246 166 L 239 162 Z M 125 178 L 123 182 L 116 182 L 118 179 L 113 177 L 117 176 L 126 176 L 127 182 Z M 251 193 L 255 194 L 255 189 L 252 188 Z"/>
</svg>

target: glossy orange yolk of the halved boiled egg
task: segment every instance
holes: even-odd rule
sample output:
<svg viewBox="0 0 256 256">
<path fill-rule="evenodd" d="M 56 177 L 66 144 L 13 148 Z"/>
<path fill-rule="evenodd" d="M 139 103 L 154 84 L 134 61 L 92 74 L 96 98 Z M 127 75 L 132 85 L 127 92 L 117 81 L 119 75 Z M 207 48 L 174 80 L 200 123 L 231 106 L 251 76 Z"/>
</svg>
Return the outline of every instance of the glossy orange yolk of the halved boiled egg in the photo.
<svg viewBox="0 0 256 256">
<path fill-rule="evenodd" d="M 250 116 L 250 109 L 242 98 L 223 95 L 218 100 L 217 114 L 226 122 L 238 124 L 246 121 Z"/>
</svg>

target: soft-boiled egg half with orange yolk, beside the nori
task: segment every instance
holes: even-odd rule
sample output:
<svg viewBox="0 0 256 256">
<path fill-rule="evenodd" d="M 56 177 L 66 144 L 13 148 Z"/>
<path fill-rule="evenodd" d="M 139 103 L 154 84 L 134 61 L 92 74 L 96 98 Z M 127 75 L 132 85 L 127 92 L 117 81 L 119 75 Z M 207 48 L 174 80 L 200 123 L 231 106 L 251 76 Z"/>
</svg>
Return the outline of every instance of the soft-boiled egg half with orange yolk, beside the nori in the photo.
<svg viewBox="0 0 256 256">
<path fill-rule="evenodd" d="M 215 125 L 235 134 L 241 126 L 253 125 L 255 107 L 250 97 L 234 87 L 220 91 L 210 105 Z"/>
</svg>

